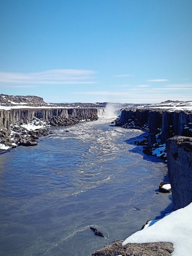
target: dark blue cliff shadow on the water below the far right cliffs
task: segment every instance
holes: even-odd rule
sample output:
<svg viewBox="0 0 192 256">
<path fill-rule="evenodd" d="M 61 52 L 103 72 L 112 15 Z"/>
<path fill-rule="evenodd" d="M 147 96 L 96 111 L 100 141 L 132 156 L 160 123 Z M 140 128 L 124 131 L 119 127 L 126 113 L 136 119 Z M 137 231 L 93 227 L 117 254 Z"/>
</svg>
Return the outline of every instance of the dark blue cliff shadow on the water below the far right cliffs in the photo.
<svg viewBox="0 0 192 256">
<path fill-rule="evenodd" d="M 137 153 L 137 154 L 140 154 L 143 156 L 143 159 L 144 160 L 147 160 L 147 161 L 151 161 L 151 162 L 164 162 L 162 159 L 160 159 L 159 157 L 156 157 L 156 156 L 148 156 L 146 155 L 145 153 L 143 153 L 143 146 L 137 146 L 134 142 L 135 141 L 142 141 L 142 140 L 145 140 L 145 136 L 148 135 L 148 132 L 145 132 L 143 134 L 140 134 L 139 136 L 136 136 L 136 137 L 133 137 L 133 138 L 130 138 L 128 140 L 124 140 L 124 142 L 126 142 L 127 144 L 130 144 L 130 145 L 134 145 L 135 147 L 132 148 L 131 150 L 129 150 L 130 152 L 132 153 Z M 164 163 L 166 164 L 166 163 Z"/>
</svg>

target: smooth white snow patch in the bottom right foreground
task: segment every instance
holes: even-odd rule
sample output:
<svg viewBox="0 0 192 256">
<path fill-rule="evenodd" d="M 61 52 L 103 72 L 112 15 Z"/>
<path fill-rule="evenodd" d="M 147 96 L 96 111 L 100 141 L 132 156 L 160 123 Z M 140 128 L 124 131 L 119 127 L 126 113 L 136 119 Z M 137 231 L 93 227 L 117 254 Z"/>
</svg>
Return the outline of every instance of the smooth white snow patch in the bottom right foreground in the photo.
<svg viewBox="0 0 192 256">
<path fill-rule="evenodd" d="M 140 230 L 122 243 L 171 242 L 173 256 L 192 255 L 192 203 L 158 220 L 152 226 Z"/>
</svg>

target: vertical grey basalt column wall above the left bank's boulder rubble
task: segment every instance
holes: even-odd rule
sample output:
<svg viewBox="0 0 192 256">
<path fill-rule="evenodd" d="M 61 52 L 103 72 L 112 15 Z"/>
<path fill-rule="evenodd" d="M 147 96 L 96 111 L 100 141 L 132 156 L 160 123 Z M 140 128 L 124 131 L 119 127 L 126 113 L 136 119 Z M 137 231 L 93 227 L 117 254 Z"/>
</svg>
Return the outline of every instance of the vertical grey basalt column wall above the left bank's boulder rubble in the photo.
<svg viewBox="0 0 192 256">
<path fill-rule="evenodd" d="M 34 116 L 54 126 L 72 125 L 78 123 L 80 120 L 96 120 L 98 118 L 96 108 L 0 110 L 0 128 L 10 130 L 11 124 L 28 124 Z"/>
</svg>

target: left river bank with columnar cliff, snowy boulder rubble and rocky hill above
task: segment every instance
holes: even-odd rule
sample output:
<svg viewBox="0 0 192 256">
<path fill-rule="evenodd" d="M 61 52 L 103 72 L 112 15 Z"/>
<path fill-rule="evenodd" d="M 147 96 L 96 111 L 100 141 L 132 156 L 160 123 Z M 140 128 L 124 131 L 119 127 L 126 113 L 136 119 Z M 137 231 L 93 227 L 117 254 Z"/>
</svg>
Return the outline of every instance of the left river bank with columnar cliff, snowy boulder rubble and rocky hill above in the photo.
<svg viewBox="0 0 192 256">
<path fill-rule="evenodd" d="M 18 145 L 36 146 L 38 136 L 48 135 L 50 126 L 69 126 L 98 119 L 96 108 L 62 108 L 37 96 L 1 94 L 0 101 L 0 152 Z M 28 124 L 34 126 L 32 130 L 26 128 Z"/>
</svg>

